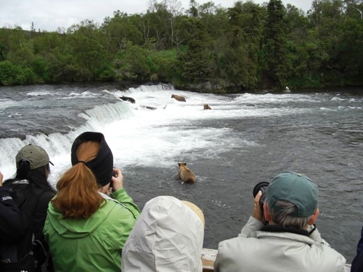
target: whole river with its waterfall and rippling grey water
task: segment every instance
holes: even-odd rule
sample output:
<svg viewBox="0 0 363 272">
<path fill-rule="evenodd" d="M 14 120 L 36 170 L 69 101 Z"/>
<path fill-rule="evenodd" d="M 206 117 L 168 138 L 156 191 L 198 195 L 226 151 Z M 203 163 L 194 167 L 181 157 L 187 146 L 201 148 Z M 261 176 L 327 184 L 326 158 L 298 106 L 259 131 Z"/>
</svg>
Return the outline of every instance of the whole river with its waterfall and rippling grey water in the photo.
<svg viewBox="0 0 363 272">
<path fill-rule="evenodd" d="M 248 220 L 256 183 L 284 170 L 301 172 L 319 186 L 316 224 L 323 239 L 351 262 L 363 221 L 362 91 L 215 95 L 166 85 L 0 87 L 0 170 L 10 178 L 17 151 L 37 144 L 54 163 L 55 185 L 71 166 L 73 139 L 102 132 L 140 209 L 158 195 L 197 204 L 205 213 L 204 247 L 214 249 Z M 186 102 L 171 98 L 174 93 Z M 212 110 L 203 110 L 205 103 Z M 197 183 L 175 179 L 179 162 L 188 163 Z"/>
</svg>

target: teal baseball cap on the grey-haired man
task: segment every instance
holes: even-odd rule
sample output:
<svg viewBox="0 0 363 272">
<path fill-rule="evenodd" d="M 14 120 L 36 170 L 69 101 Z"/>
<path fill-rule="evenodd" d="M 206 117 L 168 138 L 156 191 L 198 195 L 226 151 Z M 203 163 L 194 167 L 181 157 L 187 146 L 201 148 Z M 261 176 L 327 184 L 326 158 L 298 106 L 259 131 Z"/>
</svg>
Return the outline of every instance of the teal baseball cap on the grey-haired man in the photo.
<svg viewBox="0 0 363 272">
<path fill-rule="evenodd" d="M 304 174 L 282 172 L 272 179 L 267 188 L 268 206 L 278 211 L 278 200 L 295 204 L 297 209 L 290 213 L 291 216 L 312 216 L 318 208 L 318 186 Z"/>
</svg>

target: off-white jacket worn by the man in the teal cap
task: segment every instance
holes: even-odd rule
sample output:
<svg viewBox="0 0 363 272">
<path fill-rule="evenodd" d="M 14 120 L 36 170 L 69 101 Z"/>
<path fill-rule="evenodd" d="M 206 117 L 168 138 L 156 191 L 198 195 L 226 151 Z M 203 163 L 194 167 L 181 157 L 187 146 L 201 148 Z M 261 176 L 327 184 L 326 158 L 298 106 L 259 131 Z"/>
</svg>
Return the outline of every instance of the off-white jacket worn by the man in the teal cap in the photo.
<svg viewBox="0 0 363 272">
<path fill-rule="evenodd" d="M 291 232 L 264 232 L 262 222 L 250 217 L 237 238 L 218 245 L 214 271 L 341 272 L 346 259 L 321 239 Z"/>
</svg>

